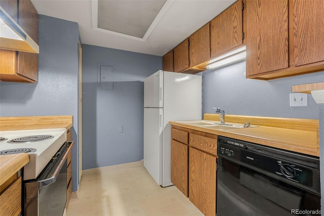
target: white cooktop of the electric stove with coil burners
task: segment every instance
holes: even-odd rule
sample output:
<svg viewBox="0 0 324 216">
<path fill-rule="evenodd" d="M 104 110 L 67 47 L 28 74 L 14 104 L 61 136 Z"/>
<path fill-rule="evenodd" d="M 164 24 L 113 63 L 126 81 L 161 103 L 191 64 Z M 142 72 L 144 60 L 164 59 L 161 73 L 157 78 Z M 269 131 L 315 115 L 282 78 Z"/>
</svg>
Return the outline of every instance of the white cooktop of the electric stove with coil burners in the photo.
<svg viewBox="0 0 324 216">
<path fill-rule="evenodd" d="M 66 141 L 66 129 L 0 131 L 0 156 L 27 153 L 23 179 L 34 179 Z"/>
</svg>

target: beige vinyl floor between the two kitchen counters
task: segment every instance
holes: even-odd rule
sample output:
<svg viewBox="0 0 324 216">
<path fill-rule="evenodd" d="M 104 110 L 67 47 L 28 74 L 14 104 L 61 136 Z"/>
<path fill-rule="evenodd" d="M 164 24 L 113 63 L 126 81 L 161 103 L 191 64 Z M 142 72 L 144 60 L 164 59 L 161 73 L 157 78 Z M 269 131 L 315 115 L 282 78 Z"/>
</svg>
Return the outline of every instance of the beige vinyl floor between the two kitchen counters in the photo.
<svg viewBox="0 0 324 216">
<path fill-rule="evenodd" d="M 161 188 L 145 167 L 83 176 L 67 216 L 203 215 L 174 186 Z"/>
</svg>

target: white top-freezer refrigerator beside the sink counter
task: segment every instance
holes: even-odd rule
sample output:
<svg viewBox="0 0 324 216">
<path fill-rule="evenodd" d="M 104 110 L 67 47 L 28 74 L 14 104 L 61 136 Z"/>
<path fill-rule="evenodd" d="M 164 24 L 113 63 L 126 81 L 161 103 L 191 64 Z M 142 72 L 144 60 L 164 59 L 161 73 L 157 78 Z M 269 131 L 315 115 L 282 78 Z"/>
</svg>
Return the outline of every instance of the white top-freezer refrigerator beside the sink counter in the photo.
<svg viewBox="0 0 324 216">
<path fill-rule="evenodd" d="M 199 119 L 201 76 L 159 70 L 144 80 L 144 167 L 158 185 L 173 185 L 169 121 Z"/>
</svg>

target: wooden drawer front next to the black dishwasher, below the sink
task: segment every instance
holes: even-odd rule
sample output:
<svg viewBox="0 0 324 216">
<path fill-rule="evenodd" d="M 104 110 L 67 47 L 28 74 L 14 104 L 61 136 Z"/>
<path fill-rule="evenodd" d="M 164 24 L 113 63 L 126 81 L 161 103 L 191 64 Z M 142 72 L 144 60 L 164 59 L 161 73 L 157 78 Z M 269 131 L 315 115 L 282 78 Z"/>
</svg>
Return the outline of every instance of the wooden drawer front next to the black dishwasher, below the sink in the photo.
<svg viewBox="0 0 324 216">
<path fill-rule="evenodd" d="M 217 139 L 189 133 L 189 145 L 197 149 L 217 155 Z"/>
</svg>

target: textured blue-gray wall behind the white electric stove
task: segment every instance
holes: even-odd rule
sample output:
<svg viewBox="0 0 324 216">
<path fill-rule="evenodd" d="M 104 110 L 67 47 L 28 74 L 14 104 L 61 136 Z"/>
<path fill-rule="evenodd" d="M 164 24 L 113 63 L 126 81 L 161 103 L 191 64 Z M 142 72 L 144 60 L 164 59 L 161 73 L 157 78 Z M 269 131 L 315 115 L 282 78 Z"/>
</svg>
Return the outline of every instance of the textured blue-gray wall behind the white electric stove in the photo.
<svg viewBox="0 0 324 216">
<path fill-rule="evenodd" d="M 72 185 L 78 188 L 78 25 L 39 15 L 38 82 L 0 83 L 0 116 L 72 115 Z"/>
</svg>

